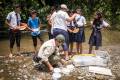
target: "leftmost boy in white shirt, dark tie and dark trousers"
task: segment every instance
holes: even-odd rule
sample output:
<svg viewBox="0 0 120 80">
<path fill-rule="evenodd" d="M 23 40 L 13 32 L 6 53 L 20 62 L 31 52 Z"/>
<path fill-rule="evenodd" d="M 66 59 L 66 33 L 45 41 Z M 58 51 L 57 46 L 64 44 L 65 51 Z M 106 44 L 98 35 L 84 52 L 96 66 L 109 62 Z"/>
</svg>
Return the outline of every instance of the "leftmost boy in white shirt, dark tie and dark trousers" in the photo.
<svg viewBox="0 0 120 80">
<path fill-rule="evenodd" d="M 20 39 L 21 39 L 21 32 L 19 30 L 20 26 L 20 5 L 16 4 L 14 6 L 14 11 L 10 12 L 6 17 L 6 24 L 9 26 L 9 39 L 10 39 L 10 54 L 9 57 L 12 57 L 13 53 L 13 46 L 16 40 L 17 50 L 20 52 Z"/>
</svg>

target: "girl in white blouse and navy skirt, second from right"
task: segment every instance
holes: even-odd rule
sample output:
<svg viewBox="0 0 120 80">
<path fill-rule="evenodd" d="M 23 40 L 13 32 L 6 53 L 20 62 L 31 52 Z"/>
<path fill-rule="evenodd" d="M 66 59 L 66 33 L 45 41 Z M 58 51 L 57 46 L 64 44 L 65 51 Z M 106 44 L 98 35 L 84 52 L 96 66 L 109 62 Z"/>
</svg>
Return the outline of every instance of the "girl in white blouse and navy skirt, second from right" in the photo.
<svg viewBox="0 0 120 80">
<path fill-rule="evenodd" d="M 86 19 L 81 14 L 81 9 L 76 9 L 76 13 L 78 14 L 75 17 L 75 25 L 78 29 L 78 32 L 75 35 L 77 53 L 82 54 L 82 43 L 85 42 L 85 33 L 84 26 L 86 24 Z"/>
</svg>

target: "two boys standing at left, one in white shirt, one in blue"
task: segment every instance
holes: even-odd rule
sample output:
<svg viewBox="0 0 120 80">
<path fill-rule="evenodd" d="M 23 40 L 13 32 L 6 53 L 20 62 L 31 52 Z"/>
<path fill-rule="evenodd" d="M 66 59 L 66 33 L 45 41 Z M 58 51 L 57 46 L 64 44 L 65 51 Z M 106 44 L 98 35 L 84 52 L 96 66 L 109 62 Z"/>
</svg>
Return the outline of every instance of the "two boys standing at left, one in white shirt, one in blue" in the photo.
<svg viewBox="0 0 120 80">
<path fill-rule="evenodd" d="M 20 40 L 21 40 L 21 29 L 26 28 L 31 31 L 33 45 L 35 52 L 37 52 L 37 38 L 40 40 L 40 45 L 44 42 L 40 36 L 40 25 L 41 21 L 37 17 L 36 10 L 31 10 L 28 23 L 22 23 L 20 17 L 20 5 L 14 5 L 14 11 L 10 12 L 6 17 L 6 24 L 9 26 L 9 40 L 10 40 L 10 55 L 13 54 L 13 46 L 16 42 L 18 55 L 20 54 Z M 23 30 L 23 29 L 22 29 Z"/>
</svg>

